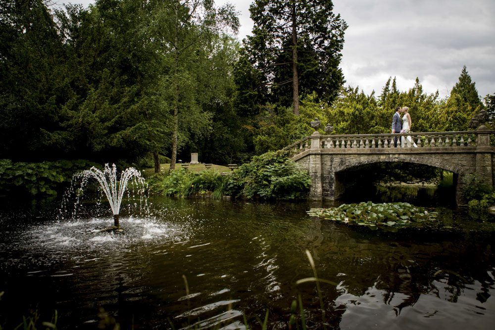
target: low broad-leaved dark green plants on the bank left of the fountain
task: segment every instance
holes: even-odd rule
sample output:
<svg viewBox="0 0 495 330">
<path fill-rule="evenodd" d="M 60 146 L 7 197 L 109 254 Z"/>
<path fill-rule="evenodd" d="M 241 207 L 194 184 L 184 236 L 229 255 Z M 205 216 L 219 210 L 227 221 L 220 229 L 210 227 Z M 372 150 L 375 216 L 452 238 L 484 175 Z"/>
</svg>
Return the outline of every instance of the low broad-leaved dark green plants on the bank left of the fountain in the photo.
<svg viewBox="0 0 495 330">
<path fill-rule="evenodd" d="M 74 173 L 94 165 L 87 160 L 13 163 L 0 159 L 0 193 L 56 196 L 71 182 Z"/>
</svg>

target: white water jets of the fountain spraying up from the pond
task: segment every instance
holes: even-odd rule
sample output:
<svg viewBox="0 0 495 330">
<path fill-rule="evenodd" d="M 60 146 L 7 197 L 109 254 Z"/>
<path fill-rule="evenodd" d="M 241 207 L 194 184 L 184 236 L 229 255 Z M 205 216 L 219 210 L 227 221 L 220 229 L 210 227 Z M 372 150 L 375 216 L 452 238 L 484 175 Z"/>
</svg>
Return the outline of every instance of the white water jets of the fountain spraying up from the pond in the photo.
<svg viewBox="0 0 495 330">
<path fill-rule="evenodd" d="M 81 186 L 79 189 L 82 191 L 91 178 L 98 181 L 100 189 L 106 195 L 106 198 L 110 203 L 110 208 L 113 213 L 114 227 L 119 227 L 120 204 L 122 202 L 124 192 L 129 184 L 132 184 L 133 189 L 137 189 L 141 199 L 141 204 L 143 203 L 143 196 L 145 189 L 147 188 L 147 184 L 145 179 L 141 176 L 141 172 L 133 167 L 129 167 L 122 171 L 120 180 L 117 180 L 117 167 L 115 164 L 112 164 L 112 167 L 105 164 L 103 171 L 93 166 L 89 170 L 75 174 L 72 181 L 77 182 L 77 180 L 81 180 Z"/>
</svg>

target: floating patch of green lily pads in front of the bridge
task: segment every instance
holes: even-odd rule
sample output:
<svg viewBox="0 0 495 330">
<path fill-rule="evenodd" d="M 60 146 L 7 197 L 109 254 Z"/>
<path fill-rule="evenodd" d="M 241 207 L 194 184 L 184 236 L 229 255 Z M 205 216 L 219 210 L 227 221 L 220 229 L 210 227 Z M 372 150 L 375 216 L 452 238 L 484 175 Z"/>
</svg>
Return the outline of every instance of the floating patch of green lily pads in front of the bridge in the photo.
<svg viewBox="0 0 495 330">
<path fill-rule="evenodd" d="M 436 218 L 435 213 L 429 213 L 422 207 L 403 202 L 342 204 L 331 208 L 312 208 L 307 211 L 307 214 L 350 225 L 355 224 L 372 228 L 378 226 L 404 227 Z"/>
</svg>

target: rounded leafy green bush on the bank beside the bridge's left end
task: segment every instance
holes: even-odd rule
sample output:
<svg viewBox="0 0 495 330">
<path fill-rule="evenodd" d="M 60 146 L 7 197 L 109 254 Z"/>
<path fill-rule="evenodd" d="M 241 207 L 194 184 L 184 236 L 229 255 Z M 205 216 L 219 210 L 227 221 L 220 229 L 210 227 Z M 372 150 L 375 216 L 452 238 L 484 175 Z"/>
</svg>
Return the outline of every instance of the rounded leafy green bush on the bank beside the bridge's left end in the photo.
<svg viewBox="0 0 495 330">
<path fill-rule="evenodd" d="M 307 195 L 311 178 L 288 158 L 287 151 L 270 151 L 254 156 L 230 178 L 226 192 L 233 197 L 295 199 Z"/>
</svg>

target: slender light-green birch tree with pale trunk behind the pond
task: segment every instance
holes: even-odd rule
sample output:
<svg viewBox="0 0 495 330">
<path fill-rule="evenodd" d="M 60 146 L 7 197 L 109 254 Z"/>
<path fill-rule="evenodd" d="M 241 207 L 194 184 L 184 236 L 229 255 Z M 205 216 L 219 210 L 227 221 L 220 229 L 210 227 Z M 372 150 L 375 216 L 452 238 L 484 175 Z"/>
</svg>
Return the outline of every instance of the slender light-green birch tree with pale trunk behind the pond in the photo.
<svg viewBox="0 0 495 330">
<path fill-rule="evenodd" d="M 154 5 L 151 26 L 157 51 L 164 61 L 162 79 L 168 95 L 165 103 L 173 116 L 173 170 L 180 148 L 179 135 L 187 131 L 184 124 L 189 122 L 189 129 L 199 130 L 209 124 L 209 114 L 198 105 L 200 94 L 195 78 L 200 68 L 205 69 L 199 60 L 204 57 L 198 55 L 204 55 L 215 35 L 228 28 L 237 32 L 239 19 L 231 4 L 216 9 L 213 0 L 156 0 Z"/>
</svg>

